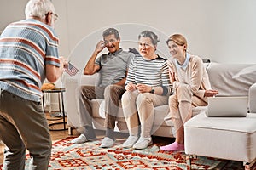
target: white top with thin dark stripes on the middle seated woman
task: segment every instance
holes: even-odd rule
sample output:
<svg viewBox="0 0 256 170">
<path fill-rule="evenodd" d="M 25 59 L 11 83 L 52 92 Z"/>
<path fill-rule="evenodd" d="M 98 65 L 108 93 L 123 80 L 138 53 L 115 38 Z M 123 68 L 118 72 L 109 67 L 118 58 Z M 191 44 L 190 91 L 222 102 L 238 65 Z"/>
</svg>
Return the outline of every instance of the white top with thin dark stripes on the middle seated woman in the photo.
<svg viewBox="0 0 256 170">
<path fill-rule="evenodd" d="M 172 89 L 166 59 L 160 56 L 145 60 L 141 55 L 136 55 L 131 60 L 125 84 L 129 82 L 153 87 L 166 86 L 169 92 Z"/>
</svg>

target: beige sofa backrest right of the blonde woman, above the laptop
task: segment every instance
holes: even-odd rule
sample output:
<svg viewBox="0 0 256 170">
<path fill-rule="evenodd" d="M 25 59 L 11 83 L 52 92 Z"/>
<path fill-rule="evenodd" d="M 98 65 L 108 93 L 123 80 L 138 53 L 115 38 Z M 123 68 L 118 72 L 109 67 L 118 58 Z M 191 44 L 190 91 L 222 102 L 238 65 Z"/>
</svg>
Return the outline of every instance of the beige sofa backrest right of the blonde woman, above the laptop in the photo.
<svg viewBox="0 0 256 170">
<path fill-rule="evenodd" d="M 212 89 L 223 96 L 247 96 L 256 82 L 256 65 L 210 63 L 207 72 Z"/>
</svg>

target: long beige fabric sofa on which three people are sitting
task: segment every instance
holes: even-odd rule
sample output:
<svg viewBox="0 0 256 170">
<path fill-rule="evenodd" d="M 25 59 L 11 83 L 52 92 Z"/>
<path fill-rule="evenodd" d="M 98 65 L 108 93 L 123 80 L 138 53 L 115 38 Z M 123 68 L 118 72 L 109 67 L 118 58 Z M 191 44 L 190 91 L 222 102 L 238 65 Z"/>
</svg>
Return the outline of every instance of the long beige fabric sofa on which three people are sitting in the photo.
<svg viewBox="0 0 256 170">
<path fill-rule="evenodd" d="M 221 64 L 221 63 L 205 63 L 209 75 L 212 89 L 218 89 L 218 95 L 224 96 L 248 96 L 249 105 L 248 111 L 255 111 L 256 102 L 256 73 L 249 72 L 242 75 L 242 71 L 255 65 L 251 64 Z M 240 75 L 238 75 L 240 74 Z M 96 85 L 99 74 L 92 76 L 79 75 L 76 77 L 67 77 L 64 82 L 66 88 L 66 111 L 67 123 L 69 127 L 79 127 L 79 116 L 76 104 L 76 89 L 81 85 Z M 250 94 L 250 95 L 249 95 Z M 105 130 L 104 124 L 104 100 L 92 100 L 93 125 L 96 129 Z M 119 103 L 121 105 L 121 103 Z M 207 106 L 195 107 L 193 116 L 204 114 L 207 111 Z M 172 121 L 165 121 L 165 117 L 169 113 L 168 105 L 160 105 L 154 107 L 155 119 L 152 134 L 162 137 L 174 137 Z M 255 111 L 256 112 L 256 111 Z M 114 129 L 116 132 L 127 133 L 125 118 L 123 117 L 122 108 L 119 107 L 118 121 Z M 71 132 L 71 131 L 70 131 Z"/>
</svg>

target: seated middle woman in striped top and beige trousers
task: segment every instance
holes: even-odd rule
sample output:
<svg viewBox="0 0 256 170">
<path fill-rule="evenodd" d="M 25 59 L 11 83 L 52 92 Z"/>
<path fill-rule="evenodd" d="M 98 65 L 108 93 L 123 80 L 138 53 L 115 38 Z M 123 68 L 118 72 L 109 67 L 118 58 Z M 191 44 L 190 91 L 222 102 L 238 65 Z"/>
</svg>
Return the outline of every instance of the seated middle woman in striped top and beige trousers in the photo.
<svg viewBox="0 0 256 170">
<path fill-rule="evenodd" d="M 158 37 L 152 31 L 143 31 L 138 39 L 141 55 L 136 55 L 131 61 L 125 82 L 126 92 L 122 96 L 125 121 L 130 134 L 123 147 L 144 149 L 152 144 L 154 106 L 168 103 L 171 83 L 166 59 L 155 54 Z"/>
</svg>

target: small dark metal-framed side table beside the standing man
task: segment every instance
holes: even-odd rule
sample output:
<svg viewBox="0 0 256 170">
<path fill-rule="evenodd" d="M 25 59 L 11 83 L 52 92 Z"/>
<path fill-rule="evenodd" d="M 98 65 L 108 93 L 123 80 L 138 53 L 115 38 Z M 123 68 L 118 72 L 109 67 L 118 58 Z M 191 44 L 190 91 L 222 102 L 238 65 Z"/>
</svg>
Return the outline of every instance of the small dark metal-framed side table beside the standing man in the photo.
<svg viewBox="0 0 256 170">
<path fill-rule="evenodd" d="M 59 111 L 61 113 L 61 116 L 62 116 L 62 122 L 54 122 L 54 123 L 50 123 L 49 124 L 49 127 L 50 126 L 53 126 L 53 125 L 56 125 L 56 124 L 63 124 L 63 128 L 60 128 L 60 129 L 51 129 L 49 128 L 50 131 L 61 131 L 61 130 L 67 130 L 67 127 L 66 127 L 66 124 L 67 122 L 65 121 L 65 107 L 64 107 L 64 92 L 66 91 L 66 88 L 55 88 L 55 89 L 52 89 L 52 90 L 42 90 L 43 94 L 44 93 L 52 93 L 52 94 L 58 94 L 58 100 L 59 100 Z M 62 106 L 62 110 L 61 110 L 61 106 Z M 45 112 L 45 108 L 44 108 L 44 95 L 43 95 L 43 110 Z M 57 119 L 57 120 L 60 120 L 60 119 Z"/>
</svg>

